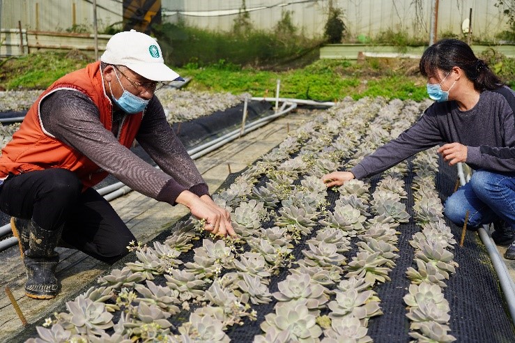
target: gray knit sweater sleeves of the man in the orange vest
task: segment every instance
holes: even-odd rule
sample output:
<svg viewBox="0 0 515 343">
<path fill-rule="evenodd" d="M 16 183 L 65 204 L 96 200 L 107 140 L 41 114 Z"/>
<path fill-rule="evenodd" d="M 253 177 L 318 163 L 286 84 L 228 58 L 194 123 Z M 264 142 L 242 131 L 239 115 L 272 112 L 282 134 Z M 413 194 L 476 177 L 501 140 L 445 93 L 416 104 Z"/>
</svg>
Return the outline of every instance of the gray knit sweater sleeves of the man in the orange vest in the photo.
<svg viewBox="0 0 515 343">
<path fill-rule="evenodd" d="M 208 194 L 205 181 L 169 127 L 155 96 L 147 106 L 137 140 L 162 170 L 121 145 L 114 133 L 100 123 L 98 107 L 84 93 L 52 93 L 41 103 L 40 117 L 46 132 L 137 192 L 172 205 L 184 190 L 199 196 Z"/>
</svg>

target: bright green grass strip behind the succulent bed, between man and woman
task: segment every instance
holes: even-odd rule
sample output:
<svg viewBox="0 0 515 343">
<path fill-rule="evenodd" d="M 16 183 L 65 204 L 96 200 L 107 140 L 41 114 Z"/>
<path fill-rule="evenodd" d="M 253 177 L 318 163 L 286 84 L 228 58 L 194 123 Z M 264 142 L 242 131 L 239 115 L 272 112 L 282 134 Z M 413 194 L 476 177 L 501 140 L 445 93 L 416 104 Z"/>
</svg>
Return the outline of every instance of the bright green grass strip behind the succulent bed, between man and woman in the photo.
<svg viewBox="0 0 515 343">
<path fill-rule="evenodd" d="M 384 96 L 420 101 L 427 97 L 425 82 L 420 76 L 406 75 L 405 69 L 399 71 L 397 67 L 378 73 L 369 64 L 357 65 L 350 61 L 319 60 L 305 68 L 285 71 L 235 70 L 233 66 L 223 69 L 220 63 L 203 68 L 190 65 L 190 68 L 177 71 L 180 75 L 193 77 L 188 89 L 202 91 L 273 97 L 277 79 L 280 79 L 280 96 L 287 98 L 335 101 L 346 96 L 356 100 L 364 96 Z"/>
</svg>

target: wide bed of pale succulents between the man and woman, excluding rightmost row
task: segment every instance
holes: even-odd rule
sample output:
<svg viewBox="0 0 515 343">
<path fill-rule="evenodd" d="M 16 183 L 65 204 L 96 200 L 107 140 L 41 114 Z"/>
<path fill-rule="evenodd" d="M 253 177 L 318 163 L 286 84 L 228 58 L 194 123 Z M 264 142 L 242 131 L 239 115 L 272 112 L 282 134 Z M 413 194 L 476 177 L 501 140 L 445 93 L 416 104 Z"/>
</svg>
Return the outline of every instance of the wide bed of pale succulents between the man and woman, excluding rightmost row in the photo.
<svg viewBox="0 0 515 343">
<path fill-rule="evenodd" d="M 36 342 L 228 342 L 227 330 L 270 303 L 255 342 L 370 342 L 369 319 L 381 314 L 373 287 L 389 280 L 396 228 L 409 218 L 406 165 L 383 174 L 372 195 L 369 181 L 330 195 L 321 176 L 399 135 L 426 105 L 346 99 L 321 112 L 214 195 L 238 239 L 206 237 L 190 218 L 162 243 L 132 245 L 137 261 L 68 302 L 47 319 L 52 328 L 38 327 Z M 353 239 L 358 253 L 348 261 Z"/>
</svg>

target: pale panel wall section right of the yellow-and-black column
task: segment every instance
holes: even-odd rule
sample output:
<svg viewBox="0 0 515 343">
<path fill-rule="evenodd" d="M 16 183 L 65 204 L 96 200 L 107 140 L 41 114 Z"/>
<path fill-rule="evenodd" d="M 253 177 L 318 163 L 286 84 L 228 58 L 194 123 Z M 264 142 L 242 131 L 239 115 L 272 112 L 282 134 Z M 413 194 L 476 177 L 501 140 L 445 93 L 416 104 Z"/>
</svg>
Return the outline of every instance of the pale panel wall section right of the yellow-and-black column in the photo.
<svg viewBox="0 0 515 343">
<path fill-rule="evenodd" d="M 332 0 L 342 8 L 344 22 L 351 37 L 375 36 L 378 32 L 398 28 L 417 36 L 429 36 L 431 0 Z M 472 8 L 472 31 L 482 38 L 508 28 L 496 0 L 440 0 L 438 31 L 461 32 L 463 20 Z M 321 36 L 327 20 L 330 0 L 246 0 L 245 7 L 256 28 L 268 29 L 281 19 L 282 10 L 293 11 L 293 22 L 307 36 Z M 163 21 L 177 22 L 201 28 L 229 31 L 242 7 L 242 0 L 162 0 Z"/>
</svg>

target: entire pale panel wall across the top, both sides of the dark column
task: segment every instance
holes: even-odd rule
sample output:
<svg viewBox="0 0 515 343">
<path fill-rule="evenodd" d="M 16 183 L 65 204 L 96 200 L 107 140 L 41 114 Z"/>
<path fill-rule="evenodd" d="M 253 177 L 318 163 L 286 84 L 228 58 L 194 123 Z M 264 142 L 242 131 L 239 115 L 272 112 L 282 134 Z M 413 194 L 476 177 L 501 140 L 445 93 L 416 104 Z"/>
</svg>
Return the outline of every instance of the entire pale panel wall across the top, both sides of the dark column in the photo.
<svg viewBox="0 0 515 343">
<path fill-rule="evenodd" d="M 245 0 L 247 11 L 258 29 L 271 29 L 283 10 L 293 11 L 293 23 L 306 36 L 321 36 L 331 0 Z M 413 3 L 421 3 L 420 7 Z M 438 31 L 461 32 L 461 24 L 472 8 L 475 37 L 493 38 L 507 29 L 497 0 L 440 0 Z M 93 31 L 93 5 L 86 0 L 0 0 L 4 29 L 65 31 L 82 24 Z M 162 0 L 163 22 L 184 20 L 205 29 L 229 31 L 242 8 L 242 0 Z M 405 29 L 416 36 L 429 36 L 431 0 L 332 0 L 344 10 L 351 38 L 376 36 L 387 29 Z M 121 0 L 97 0 L 99 30 L 122 20 Z"/>
</svg>

